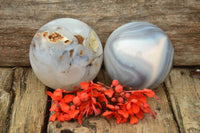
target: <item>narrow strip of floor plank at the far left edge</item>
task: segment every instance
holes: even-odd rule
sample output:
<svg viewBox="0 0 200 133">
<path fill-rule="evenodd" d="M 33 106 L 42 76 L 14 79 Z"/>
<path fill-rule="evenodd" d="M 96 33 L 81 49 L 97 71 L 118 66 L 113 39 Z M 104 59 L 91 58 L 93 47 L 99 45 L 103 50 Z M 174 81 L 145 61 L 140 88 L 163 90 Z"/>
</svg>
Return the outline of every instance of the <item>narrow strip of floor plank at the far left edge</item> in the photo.
<svg viewBox="0 0 200 133">
<path fill-rule="evenodd" d="M 11 68 L 0 68 L 0 133 L 8 130 L 8 118 L 13 93 L 11 92 L 13 70 Z"/>
</svg>

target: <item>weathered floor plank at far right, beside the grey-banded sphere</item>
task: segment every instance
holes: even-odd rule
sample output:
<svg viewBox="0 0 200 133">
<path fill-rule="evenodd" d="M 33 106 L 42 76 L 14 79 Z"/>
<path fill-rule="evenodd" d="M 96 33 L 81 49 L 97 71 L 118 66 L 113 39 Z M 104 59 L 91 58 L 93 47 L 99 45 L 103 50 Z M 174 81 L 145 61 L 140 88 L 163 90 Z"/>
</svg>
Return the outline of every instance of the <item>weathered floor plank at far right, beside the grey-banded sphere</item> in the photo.
<svg viewBox="0 0 200 133">
<path fill-rule="evenodd" d="M 189 69 L 173 69 L 166 80 L 167 90 L 181 132 L 200 132 L 200 79 Z"/>
</svg>

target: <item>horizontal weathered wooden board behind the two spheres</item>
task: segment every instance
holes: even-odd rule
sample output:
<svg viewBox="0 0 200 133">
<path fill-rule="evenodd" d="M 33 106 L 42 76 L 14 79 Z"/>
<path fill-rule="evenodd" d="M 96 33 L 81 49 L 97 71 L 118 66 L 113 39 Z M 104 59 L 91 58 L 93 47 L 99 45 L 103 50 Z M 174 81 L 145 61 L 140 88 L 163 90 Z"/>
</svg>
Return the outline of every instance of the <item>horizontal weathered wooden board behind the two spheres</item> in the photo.
<svg viewBox="0 0 200 133">
<path fill-rule="evenodd" d="M 90 25 L 103 45 L 117 27 L 148 21 L 171 39 L 174 65 L 200 65 L 199 0 L 0 0 L 0 66 L 29 66 L 29 45 L 36 31 L 61 17 Z"/>
</svg>

